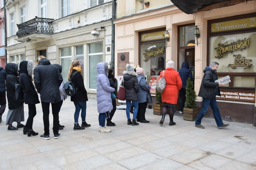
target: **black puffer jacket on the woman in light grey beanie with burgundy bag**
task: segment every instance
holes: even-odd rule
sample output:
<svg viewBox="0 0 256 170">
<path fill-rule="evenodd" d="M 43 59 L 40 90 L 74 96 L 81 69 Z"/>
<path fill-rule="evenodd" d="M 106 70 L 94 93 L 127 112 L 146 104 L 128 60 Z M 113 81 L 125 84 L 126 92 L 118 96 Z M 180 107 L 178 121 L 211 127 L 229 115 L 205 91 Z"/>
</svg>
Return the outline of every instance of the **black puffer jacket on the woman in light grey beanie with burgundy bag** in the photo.
<svg viewBox="0 0 256 170">
<path fill-rule="evenodd" d="M 123 71 L 123 86 L 125 99 L 137 101 L 139 93 L 138 74 L 133 71 Z"/>
</svg>

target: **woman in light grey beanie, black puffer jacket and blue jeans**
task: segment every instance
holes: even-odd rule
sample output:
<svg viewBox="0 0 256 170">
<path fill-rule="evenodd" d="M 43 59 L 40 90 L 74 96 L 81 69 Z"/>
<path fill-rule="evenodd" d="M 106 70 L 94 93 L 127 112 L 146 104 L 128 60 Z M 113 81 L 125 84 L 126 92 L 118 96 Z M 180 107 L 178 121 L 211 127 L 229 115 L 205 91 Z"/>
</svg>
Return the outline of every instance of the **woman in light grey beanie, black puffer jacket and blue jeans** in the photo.
<svg viewBox="0 0 256 170">
<path fill-rule="evenodd" d="M 136 116 L 138 113 L 138 93 L 139 93 L 139 82 L 138 74 L 133 71 L 133 66 L 130 64 L 126 65 L 126 71 L 123 71 L 123 86 L 125 88 L 125 100 L 126 100 L 126 116 L 127 116 L 127 125 L 132 124 L 139 125 L 136 122 Z M 122 84 L 122 83 L 121 83 Z M 131 101 L 134 105 L 133 111 L 133 122 L 130 118 L 130 106 Z"/>
</svg>

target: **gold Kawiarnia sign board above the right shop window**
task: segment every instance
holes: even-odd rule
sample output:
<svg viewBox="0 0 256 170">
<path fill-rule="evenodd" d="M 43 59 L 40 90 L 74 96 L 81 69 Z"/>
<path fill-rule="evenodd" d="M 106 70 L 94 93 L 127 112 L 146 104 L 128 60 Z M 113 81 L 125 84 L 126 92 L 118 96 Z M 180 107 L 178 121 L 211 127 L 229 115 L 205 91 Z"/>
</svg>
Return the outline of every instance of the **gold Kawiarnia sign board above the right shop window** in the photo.
<svg viewBox="0 0 256 170">
<path fill-rule="evenodd" d="M 226 21 L 226 22 L 212 23 L 211 33 L 256 27 L 255 18 L 256 16 L 244 18 L 244 19 L 236 19 L 236 20 Z"/>
</svg>

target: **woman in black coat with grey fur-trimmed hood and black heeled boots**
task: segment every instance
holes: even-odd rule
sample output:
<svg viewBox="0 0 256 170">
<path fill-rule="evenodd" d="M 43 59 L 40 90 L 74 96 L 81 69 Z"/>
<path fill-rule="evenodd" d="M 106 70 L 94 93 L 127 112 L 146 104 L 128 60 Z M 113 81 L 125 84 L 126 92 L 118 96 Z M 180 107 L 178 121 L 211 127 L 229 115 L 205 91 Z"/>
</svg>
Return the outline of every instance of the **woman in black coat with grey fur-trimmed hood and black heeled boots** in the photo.
<svg viewBox="0 0 256 170">
<path fill-rule="evenodd" d="M 24 102 L 28 104 L 29 108 L 29 117 L 26 122 L 25 127 L 23 128 L 23 134 L 28 134 L 28 137 L 31 135 L 38 135 L 37 132 L 33 131 L 33 119 L 36 115 L 36 107 L 35 104 L 40 103 L 38 99 L 38 94 L 35 91 L 35 87 L 33 85 L 33 72 L 34 62 L 32 60 L 29 61 L 21 61 L 20 62 L 20 86 L 24 93 Z"/>
</svg>

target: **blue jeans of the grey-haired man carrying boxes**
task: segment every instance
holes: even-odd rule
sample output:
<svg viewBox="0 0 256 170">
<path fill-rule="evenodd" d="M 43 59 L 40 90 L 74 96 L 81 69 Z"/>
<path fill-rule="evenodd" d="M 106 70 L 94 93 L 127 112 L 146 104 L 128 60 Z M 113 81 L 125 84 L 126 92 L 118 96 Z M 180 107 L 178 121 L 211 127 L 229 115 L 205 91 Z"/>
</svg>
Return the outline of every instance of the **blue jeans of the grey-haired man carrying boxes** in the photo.
<svg viewBox="0 0 256 170">
<path fill-rule="evenodd" d="M 215 119 L 217 126 L 218 127 L 222 126 L 224 123 L 222 122 L 222 119 L 221 119 L 221 114 L 220 114 L 219 107 L 218 107 L 218 104 L 216 101 L 216 96 L 213 99 L 208 99 L 208 98 L 203 97 L 203 105 L 202 105 L 202 108 L 197 116 L 195 124 L 201 125 L 201 120 L 203 119 L 204 115 L 206 114 L 206 112 L 209 108 L 209 105 L 212 108 L 212 112 L 213 112 L 214 119 Z"/>
</svg>

